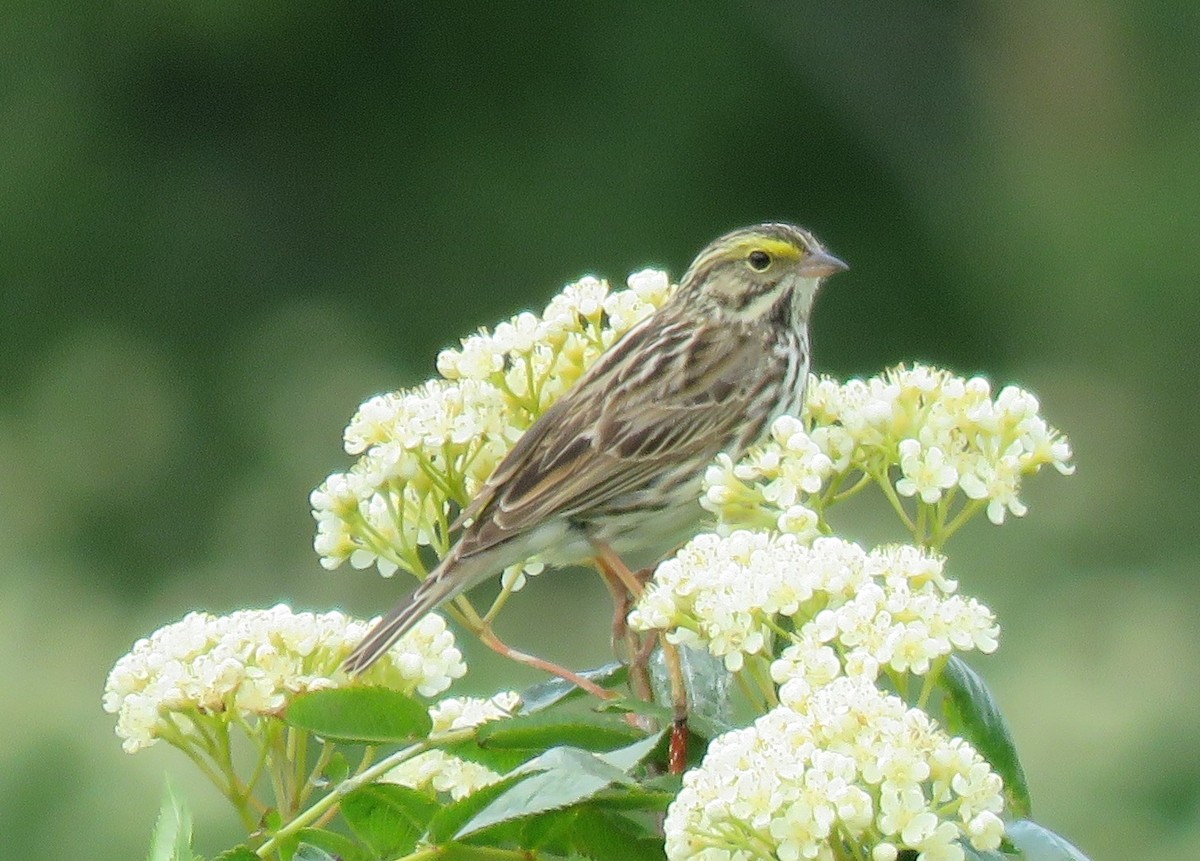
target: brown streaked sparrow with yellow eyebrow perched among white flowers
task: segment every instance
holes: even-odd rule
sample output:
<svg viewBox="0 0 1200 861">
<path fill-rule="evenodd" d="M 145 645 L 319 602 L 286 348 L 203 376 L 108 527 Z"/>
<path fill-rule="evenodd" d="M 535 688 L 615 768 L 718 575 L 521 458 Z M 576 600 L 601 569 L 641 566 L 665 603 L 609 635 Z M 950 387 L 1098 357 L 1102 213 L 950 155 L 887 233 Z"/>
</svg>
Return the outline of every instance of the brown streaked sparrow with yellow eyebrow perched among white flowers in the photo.
<svg viewBox="0 0 1200 861">
<path fill-rule="evenodd" d="M 530 556 L 565 566 L 614 554 L 641 567 L 691 537 L 708 464 L 799 415 L 814 300 L 846 269 L 786 223 L 709 243 L 676 293 L 517 440 L 458 516 L 446 555 L 344 668 L 361 673 L 428 612 Z"/>
</svg>

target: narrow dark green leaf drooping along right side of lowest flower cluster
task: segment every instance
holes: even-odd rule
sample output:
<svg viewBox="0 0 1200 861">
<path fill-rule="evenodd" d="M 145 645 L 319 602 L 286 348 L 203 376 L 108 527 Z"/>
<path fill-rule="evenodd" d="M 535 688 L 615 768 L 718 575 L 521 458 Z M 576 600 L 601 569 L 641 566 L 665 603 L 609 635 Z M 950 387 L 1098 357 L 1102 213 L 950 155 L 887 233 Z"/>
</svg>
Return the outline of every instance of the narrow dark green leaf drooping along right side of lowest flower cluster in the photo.
<svg viewBox="0 0 1200 861">
<path fill-rule="evenodd" d="M 956 655 L 947 662 L 937 684 L 946 692 L 943 709 L 949 730 L 970 741 L 1003 778 L 1009 814 L 1028 817 L 1032 802 L 1025 769 L 1008 722 L 988 685 Z"/>
</svg>

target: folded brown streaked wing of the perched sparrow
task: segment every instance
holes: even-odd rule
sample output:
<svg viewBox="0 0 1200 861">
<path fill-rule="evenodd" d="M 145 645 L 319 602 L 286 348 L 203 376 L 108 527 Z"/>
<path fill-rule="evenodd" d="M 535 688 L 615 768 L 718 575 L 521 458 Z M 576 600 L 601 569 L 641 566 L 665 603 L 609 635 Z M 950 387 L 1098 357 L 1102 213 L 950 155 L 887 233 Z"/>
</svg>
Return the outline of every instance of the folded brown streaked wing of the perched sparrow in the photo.
<svg viewBox="0 0 1200 861">
<path fill-rule="evenodd" d="M 497 468 L 468 510 L 475 522 L 463 536 L 463 553 L 487 549 L 547 518 L 602 508 L 673 464 L 714 457 L 767 384 L 763 336 L 726 329 L 680 341 L 672 351 L 636 351 L 636 361 L 660 360 L 653 374 L 629 367 L 628 353 L 620 365 L 605 363 L 605 379 L 588 374 Z"/>
</svg>

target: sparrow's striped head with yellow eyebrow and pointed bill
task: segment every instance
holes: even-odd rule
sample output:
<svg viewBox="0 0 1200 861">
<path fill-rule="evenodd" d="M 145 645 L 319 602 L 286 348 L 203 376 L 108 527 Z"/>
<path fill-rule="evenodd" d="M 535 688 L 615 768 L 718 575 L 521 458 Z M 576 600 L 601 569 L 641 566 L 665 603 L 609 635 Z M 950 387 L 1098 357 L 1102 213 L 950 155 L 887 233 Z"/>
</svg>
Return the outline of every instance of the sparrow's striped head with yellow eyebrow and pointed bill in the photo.
<svg viewBox="0 0 1200 861">
<path fill-rule="evenodd" d="M 694 311 L 700 306 L 746 323 L 786 307 L 794 325 L 808 319 L 821 279 L 845 269 L 808 230 L 756 224 L 700 252 L 677 296 Z"/>
</svg>

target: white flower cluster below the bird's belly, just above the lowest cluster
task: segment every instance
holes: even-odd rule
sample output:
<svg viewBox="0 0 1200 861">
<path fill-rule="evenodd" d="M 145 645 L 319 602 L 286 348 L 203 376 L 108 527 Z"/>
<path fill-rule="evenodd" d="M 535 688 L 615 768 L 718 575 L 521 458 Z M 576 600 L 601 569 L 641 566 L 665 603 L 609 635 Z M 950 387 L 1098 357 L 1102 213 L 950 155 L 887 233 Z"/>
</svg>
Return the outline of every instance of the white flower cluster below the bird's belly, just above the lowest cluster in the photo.
<svg viewBox="0 0 1200 861">
<path fill-rule="evenodd" d="M 952 651 L 994 651 L 1000 634 L 986 607 L 953 594 L 943 566 L 908 546 L 868 553 L 834 537 L 806 546 L 787 534 L 708 532 L 659 565 L 629 625 L 703 645 L 731 672 L 781 648 L 772 674 L 790 692 L 842 673 L 923 675 Z M 776 646 L 776 633 L 788 639 Z"/>
</svg>

